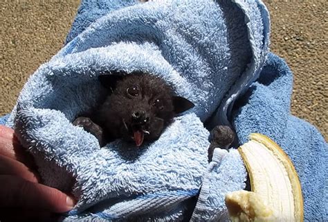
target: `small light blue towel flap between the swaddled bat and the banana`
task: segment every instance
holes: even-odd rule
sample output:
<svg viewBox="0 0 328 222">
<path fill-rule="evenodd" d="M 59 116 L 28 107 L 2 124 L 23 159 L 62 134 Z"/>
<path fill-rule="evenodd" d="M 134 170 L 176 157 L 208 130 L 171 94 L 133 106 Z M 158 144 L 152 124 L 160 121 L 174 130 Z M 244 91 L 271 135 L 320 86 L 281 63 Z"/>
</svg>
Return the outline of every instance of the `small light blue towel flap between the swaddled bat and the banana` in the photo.
<svg viewBox="0 0 328 222">
<path fill-rule="evenodd" d="M 204 173 L 191 221 L 229 221 L 224 198 L 229 191 L 244 189 L 245 178 L 244 162 L 239 152 L 216 148 Z"/>
</svg>

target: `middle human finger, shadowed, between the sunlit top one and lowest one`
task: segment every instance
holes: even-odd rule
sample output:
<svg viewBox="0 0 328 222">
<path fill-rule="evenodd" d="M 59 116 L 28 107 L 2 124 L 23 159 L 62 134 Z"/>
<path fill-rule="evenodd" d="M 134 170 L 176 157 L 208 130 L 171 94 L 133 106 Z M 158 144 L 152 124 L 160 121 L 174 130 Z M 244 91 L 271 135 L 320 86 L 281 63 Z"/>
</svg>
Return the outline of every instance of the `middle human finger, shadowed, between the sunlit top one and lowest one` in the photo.
<svg viewBox="0 0 328 222">
<path fill-rule="evenodd" d="M 38 182 L 38 178 L 28 167 L 17 160 L 0 155 L 0 175 L 19 176 L 30 182 Z"/>
</svg>

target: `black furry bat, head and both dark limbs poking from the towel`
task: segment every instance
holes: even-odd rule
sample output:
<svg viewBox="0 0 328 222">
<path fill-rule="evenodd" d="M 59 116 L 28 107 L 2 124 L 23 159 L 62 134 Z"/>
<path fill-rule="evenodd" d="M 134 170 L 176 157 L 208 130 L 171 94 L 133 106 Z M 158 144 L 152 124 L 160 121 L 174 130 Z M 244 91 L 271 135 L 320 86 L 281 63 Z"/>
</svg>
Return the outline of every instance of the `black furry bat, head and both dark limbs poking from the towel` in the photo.
<svg viewBox="0 0 328 222">
<path fill-rule="evenodd" d="M 174 96 L 172 88 L 161 78 L 135 72 L 124 76 L 122 72 L 100 76 L 100 82 L 109 89 L 98 109 L 89 117 L 78 117 L 74 125 L 97 137 L 100 146 L 114 139 L 154 141 L 176 114 L 189 110 L 194 104 Z M 215 148 L 228 148 L 235 133 L 228 126 L 216 126 L 210 133 L 208 159 Z M 136 138 L 138 137 L 138 138 Z"/>
</svg>

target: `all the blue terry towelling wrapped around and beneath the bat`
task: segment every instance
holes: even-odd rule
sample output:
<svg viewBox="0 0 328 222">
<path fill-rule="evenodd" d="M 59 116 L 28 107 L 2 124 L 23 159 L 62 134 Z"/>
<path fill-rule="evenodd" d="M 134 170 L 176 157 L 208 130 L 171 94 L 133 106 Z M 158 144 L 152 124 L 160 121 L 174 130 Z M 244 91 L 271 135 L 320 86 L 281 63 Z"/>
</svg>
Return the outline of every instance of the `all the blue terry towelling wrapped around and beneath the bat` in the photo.
<svg viewBox="0 0 328 222">
<path fill-rule="evenodd" d="M 233 126 L 240 143 L 250 133 L 275 140 L 299 173 L 305 219 L 327 219 L 327 144 L 289 114 L 291 71 L 268 53 L 268 33 L 260 1 L 84 0 L 66 46 L 30 77 L 7 124 L 46 185 L 73 187 L 68 221 L 227 219 L 224 195 L 245 187 L 246 170 L 235 150 L 216 149 L 208 164 L 204 121 Z M 160 76 L 195 107 L 138 151 L 120 140 L 100 148 L 71 121 L 97 104 L 97 77 L 110 70 Z"/>
</svg>

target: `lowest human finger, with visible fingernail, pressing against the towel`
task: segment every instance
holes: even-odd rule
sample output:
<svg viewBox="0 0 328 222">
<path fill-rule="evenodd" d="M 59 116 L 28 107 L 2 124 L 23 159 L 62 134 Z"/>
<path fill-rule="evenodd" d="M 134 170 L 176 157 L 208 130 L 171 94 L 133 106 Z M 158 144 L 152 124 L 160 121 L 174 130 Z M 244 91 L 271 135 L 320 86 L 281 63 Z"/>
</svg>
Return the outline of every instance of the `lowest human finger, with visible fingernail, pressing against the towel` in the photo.
<svg viewBox="0 0 328 222">
<path fill-rule="evenodd" d="M 26 207 L 67 212 L 75 201 L 62 191 L 15 176 L 0 176 L 0 207 Z"/>
</svg>

